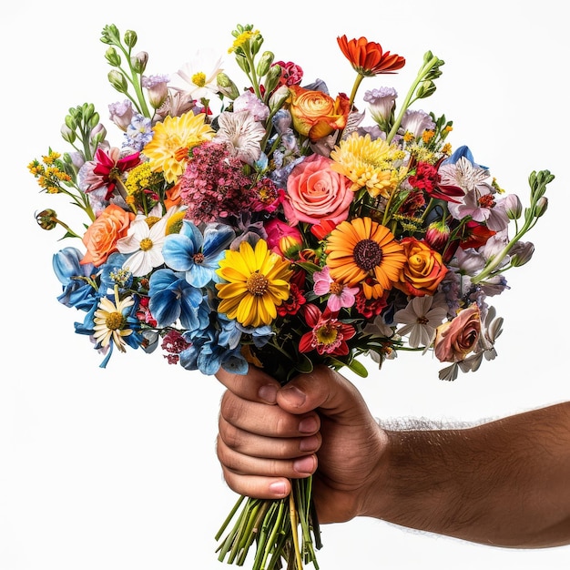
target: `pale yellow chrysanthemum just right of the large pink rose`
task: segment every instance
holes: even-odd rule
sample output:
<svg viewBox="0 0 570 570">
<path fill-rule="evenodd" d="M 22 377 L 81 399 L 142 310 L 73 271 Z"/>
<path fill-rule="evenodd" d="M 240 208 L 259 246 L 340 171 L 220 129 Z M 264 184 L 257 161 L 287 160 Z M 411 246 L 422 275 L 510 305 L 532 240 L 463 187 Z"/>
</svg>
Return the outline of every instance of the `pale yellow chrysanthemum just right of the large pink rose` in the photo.
<svg viewBox="0 0 570 570">
<path fill-rule="evenodd" d="M 400 168 L 394 166 L 401 151 L 382 138 L 352 133 L 332 150 L 331 158 L 331 168 L 351 180 L 351 190 L 366 188 L 372 198 L 389 198 L 402 179 Z"/>
</svg>

